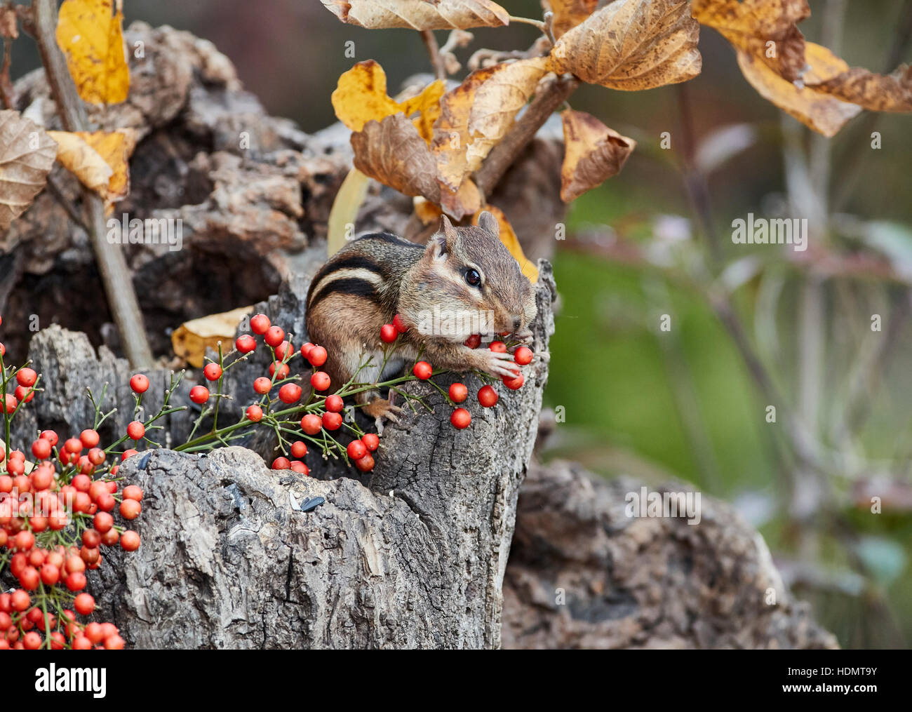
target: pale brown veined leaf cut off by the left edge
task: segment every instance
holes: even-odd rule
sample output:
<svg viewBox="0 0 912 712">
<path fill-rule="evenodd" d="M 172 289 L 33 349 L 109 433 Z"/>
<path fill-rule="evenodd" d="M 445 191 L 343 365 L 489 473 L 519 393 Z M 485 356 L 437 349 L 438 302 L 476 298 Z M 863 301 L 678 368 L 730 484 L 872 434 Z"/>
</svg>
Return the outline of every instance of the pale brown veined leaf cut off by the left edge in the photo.
<svg viewBox="0 0 912 712">
<path fill-rule="evenodd" d="M 0 111 L 0 230 L 6 230 L 47 184 L 57 146 L 17 111 Z"/>
</svg>

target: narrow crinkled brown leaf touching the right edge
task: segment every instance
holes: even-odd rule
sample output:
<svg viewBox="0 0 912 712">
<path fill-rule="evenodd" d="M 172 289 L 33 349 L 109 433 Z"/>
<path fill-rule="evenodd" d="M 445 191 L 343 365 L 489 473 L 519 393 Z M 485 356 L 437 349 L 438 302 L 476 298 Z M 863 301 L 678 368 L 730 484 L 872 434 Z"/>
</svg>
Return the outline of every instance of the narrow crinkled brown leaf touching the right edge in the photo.
<svg viewBox="0 0 912 712">
<path fill-rule="evenodd" d="M 912 111 L 912 67 L 908 65 L 887 75 L 852 67 L 819 81 L 805 76 L 804 84 L 871 111 Z"/>
</svg>

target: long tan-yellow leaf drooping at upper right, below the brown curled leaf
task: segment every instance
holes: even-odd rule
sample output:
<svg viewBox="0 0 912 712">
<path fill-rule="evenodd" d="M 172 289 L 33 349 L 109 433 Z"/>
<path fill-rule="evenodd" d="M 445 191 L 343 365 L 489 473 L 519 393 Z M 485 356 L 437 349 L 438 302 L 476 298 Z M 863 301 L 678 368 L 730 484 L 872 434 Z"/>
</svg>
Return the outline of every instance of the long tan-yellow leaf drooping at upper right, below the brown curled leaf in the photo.
<svg viewBox="0 0 912 712">
<path fill-rule="evenodd" d="M 811 44 L 809 42 L 808 46 Z M 846 121 L 861 111 L 861 107 L 855 104 L 840 101 L 814 88 L 796 87 L 760 59 L 740 50 L 738 66 L 741 67 L 741 74 L 751 82 L 762 98 L 826 137 L 835 136 Z"/>
</svg>

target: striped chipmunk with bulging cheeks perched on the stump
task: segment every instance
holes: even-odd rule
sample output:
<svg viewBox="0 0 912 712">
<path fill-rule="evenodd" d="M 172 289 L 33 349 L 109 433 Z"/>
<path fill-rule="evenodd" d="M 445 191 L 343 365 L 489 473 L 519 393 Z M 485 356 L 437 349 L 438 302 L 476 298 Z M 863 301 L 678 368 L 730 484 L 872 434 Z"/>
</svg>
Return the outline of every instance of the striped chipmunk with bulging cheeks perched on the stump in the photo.
<svg viewBox="0 0 912 712">
<path fill-rule="evenodd" d="M 368 358 L 358 382 L 392 377 L 419 355 L 454 371 L 515 374 L 511 354 L 464 344 L 475 334 L 513 334 L 528 342 L 536 313 L 532 284 L 500 241 L 497 220 L 482 212 L 478 222 L 454 228 L 444 215 L 427 247 L 386 232 L 364 235 L 316 273 L 307 292 L 307 333 L 326 347 L 324 370 L 334 384 L 346 383 Z M 397 314 L 408 331 L 384 366 L 380 328 Z M 398 421 L 401 408 L 379 390 L 355 399 L 378 424 Z"/>
</svg>

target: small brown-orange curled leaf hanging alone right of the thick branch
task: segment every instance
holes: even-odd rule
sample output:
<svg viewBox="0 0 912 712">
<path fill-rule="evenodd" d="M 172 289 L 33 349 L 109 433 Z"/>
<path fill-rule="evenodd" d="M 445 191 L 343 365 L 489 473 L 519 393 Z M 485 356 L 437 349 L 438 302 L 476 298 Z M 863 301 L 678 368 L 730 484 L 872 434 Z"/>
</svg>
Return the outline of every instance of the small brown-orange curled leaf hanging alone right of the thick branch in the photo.
<svg viewBox="0 0 912 712">
<path fill-rule="evenodd" d="M 591 114 L 566 110 L 564 163 L 561 166 L 561 200 L 570 202 L 617 175 L 637 146 Z"/>
</svg>

